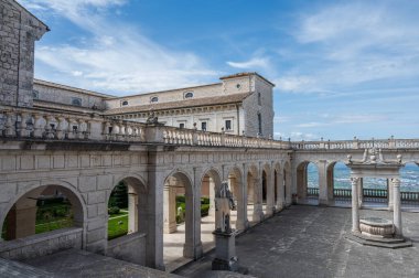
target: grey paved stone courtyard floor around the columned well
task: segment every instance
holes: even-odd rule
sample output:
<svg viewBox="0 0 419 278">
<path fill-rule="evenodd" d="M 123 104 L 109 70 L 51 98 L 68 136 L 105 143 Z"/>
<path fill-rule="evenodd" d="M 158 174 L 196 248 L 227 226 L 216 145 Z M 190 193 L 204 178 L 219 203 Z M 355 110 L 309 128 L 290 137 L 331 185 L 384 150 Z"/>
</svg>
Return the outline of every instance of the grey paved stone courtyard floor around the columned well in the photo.
<svg viewBox="0 0 419 278">
<path fill-rule="evenodd" d="M 387 211 L 363 210 L 361 216 L 393 218 Z M 419 277 L 419 214 L 402 213 L 405 235 L 413 247 L 384 249 L 346 239 L 351 210 L 291 206 L 236 240 L 237 256 L 256 277 Z M 176 271 L 202 277 L 214 253 Z"/>
</svg>

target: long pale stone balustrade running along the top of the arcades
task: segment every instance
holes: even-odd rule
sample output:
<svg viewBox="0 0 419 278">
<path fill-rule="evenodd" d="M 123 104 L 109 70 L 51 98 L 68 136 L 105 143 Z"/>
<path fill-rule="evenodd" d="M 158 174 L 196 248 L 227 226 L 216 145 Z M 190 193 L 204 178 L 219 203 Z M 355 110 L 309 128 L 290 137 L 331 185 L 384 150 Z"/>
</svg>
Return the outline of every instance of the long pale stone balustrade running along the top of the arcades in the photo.
<svg viewBox="0 0 419 278">
<path fill-rule="evenodd" d="M 419 149 L 418 139 L 282 141 L 115 119 L 0 106 L 0 137 L 49 140 L 153 142 L 178 146 L 296 150 Z"/>
</svg>

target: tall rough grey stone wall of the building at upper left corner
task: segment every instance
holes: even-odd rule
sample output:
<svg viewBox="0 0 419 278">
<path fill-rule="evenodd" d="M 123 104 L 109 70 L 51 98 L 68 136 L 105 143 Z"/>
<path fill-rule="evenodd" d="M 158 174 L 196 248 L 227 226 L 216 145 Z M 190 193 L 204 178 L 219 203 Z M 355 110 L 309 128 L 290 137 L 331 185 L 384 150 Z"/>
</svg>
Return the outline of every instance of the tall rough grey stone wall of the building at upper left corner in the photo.
<svg viewBox="0 0 419 278">
<path fill-rule="evenodd" d="M 47 26 L 13 0 L 0 0 L 0 104 L 31 107 L 34 43 Z"/>
</svg>

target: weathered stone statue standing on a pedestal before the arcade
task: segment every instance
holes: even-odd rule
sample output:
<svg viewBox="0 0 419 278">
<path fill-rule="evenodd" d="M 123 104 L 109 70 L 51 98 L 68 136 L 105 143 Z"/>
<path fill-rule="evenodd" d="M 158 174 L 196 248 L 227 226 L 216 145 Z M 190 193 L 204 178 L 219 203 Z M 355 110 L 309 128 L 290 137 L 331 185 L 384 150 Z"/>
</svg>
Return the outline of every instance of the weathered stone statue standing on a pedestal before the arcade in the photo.
<svg viewBox="0 0 419 278">
<path fill-rule="evenodd" d="M 229 212 L 235 209 L 233 194 L 228 189 L 228 182 L 222 182 L 217 192 L 215 192 L 215 229 L 223 233 L 230 233 Z"/>
</svg>

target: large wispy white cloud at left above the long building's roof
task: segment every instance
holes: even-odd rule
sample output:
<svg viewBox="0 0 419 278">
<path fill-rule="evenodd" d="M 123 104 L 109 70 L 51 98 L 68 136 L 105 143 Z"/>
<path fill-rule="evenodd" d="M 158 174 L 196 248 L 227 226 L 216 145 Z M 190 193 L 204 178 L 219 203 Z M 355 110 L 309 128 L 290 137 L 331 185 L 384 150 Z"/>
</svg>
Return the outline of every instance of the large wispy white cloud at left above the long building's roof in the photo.
<svg viewBox="0 0 419 278">
<path fill-rule="evenodd" d="M 125 2 L 34 0 L 90 33 L 71 45 L 36 47 L 36 77 L 118 95 L 192 86 L 219 76 L 194 53 L 168 50 L 132 25 L 110 22 L 106 11 Z"/>
</svg>

